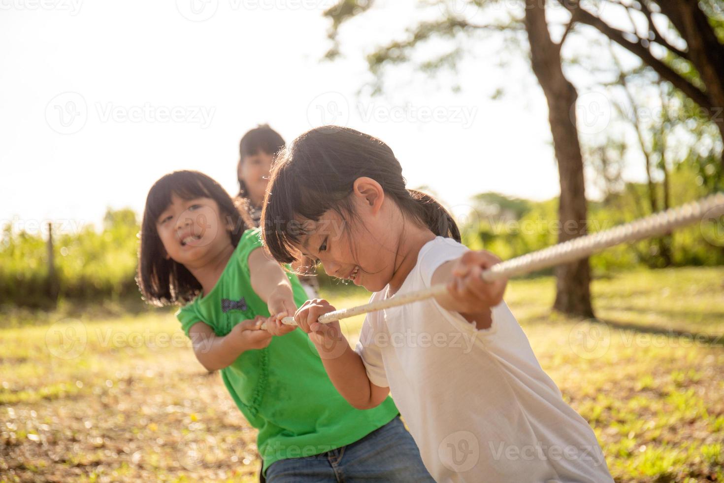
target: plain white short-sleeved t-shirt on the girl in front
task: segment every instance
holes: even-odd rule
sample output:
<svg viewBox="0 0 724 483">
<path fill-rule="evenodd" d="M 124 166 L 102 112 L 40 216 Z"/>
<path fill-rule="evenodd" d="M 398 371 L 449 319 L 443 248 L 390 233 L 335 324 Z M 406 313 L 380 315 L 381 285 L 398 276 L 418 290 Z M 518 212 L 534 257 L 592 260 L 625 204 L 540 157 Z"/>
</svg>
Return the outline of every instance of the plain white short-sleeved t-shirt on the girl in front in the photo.
<svg viewBox="0 0 724 483">
<path fill-rule="evenodd" d="M 452 238 L 430 240 L 397 294 L 429 287 L 435 269 L 465 251 Z M 505 302 L 481 330 L 434 298 L 371 312 L 355 350 L 371 382 L 390 387 L 437 482 L 613 482 L 593 430 Z"/>
</svg>

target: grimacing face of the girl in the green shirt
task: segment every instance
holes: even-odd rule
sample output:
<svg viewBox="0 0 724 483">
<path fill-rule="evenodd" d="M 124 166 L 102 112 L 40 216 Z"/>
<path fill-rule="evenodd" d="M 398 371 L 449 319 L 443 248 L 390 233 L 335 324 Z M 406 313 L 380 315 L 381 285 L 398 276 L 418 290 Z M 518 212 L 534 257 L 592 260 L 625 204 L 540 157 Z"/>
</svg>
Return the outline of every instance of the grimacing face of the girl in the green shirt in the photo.
<svg viewBox="0 0 724 483">
<path fill-rule="evenodd" d="M 211 198 L 185 200 L 173 193 L 171 204 L 156 219 L 167 258 L 180 264 L 203 264 L 209 253 L 231 243 L 219 205 Z"/>
</svg>

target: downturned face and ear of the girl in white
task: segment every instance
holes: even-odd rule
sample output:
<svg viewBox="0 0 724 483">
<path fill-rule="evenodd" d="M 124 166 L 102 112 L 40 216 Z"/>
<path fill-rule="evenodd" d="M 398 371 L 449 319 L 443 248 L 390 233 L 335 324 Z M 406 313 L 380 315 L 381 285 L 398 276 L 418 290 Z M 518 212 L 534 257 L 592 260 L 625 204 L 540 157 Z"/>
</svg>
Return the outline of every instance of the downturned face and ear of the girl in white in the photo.
<svg viewBox="0 0 724 483">
<path fill-rule="evenodd" d="M 377 185 L 379 187 L 379 185 Z M 298 219 L 302 253 L 321 261 L 332 277 L 352 280 L 370 292 L 382 290 L 395 273 L 399 224 L 391 223 L 390 202 L 379 193 L 365 189 L 358 193 L 355 182 L 353 203 L 359 219 L 354 226 L 329 210 L 318 222 Z M 394 204 L 394 203 L 392 203 Z"/>
</svg>

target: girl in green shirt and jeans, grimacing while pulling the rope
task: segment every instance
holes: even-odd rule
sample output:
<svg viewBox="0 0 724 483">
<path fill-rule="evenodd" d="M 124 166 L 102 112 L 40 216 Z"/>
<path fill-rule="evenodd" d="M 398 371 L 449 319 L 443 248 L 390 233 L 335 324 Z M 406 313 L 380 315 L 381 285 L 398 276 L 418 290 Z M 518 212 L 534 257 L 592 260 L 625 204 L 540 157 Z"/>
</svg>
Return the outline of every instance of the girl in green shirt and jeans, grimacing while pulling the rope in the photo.
<svg viewBox="0 0 724 483">
<path fill-rule="evenodd" d="M 261 322 L 295 314 L 306 295 L 261 248 L 260 230 L 200 172 L 161 177 L 148 193 L 138 285 L 148 303 L 182 305 L 198 361 L 258 429 L 262 474 L 277 482 L 432 481 L 390 398 L 353 408 L 319 353 L 294 327 Z M 288 267 L 287 267 L 288 268 Z"/>
</svg>

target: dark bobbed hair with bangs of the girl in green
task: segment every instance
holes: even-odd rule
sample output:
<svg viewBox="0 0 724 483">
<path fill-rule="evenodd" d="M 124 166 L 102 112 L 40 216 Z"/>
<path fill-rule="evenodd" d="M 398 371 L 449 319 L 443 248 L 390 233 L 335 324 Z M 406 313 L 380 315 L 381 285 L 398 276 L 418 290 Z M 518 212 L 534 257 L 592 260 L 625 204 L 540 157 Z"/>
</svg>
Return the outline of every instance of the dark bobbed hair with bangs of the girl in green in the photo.
<svg viewBox="0 0 724 483">
<path fill-rule="evenodd" d="M 201 284 L 183 264 L 166 259 L 156 229 L 156 221 L 171 204 L 173 193 L 185 200 L 204 197 L 216 201 L 222 219 L 225 216 L 233 227 L 230 235 L 234 246 L 238 245 L 242 233 L 253 226 L 248 214 L 235 209 L 229 193 L 201 172 L 174 171 L 153 183 L 141 222 L 136 283 L 146 302 L 156 306 L 190 302 L 201 290 Z"/>
</svg>

